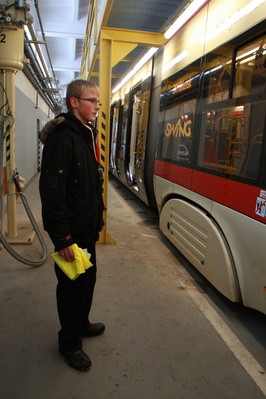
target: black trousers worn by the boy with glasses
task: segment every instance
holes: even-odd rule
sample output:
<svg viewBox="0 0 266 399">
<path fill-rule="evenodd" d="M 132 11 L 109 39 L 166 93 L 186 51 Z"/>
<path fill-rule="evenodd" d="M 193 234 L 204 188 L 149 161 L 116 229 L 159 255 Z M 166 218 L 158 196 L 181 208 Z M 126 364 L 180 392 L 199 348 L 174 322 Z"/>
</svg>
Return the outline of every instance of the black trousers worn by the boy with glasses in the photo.
<svg viewBox="0 0 266 399">
<path fill-rule="evenodd" d="M 87 248 L 88 253 L 91 254 L 90 262 L 93 266 L 89 267 L 85 273 L 73 281 L 55 263 L 55 274 L 58 280 L 57 311 L 61 324 L 58 343 L 60 348 L 67 351 L 82 349 L 82 341 L 79 336 L 90 326 L 89 312 L 93 301 L 97 272 L 95 243 L 79 242 L 77 245 L 81 249 Z"/>
</svg>

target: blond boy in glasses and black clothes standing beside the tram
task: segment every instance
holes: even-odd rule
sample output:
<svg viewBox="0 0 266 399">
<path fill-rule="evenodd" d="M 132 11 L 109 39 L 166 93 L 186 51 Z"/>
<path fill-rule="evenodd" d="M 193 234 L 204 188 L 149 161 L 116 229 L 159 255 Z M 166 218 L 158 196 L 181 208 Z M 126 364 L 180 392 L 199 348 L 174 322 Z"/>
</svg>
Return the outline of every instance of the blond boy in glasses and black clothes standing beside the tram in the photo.
<svg viewBox="0 0 266 399">
<path fill-rule="evenodd" d="M 101 106 L 99 87 L 85 80 L 72 81 L 66 104 L 68 112 L 48 122 L 40 132 L 44 148 L 39 192 L 43 227 L 58 255 L 73 262 L 73 243 L 91 254 L 93 266 L 75 280 L 55 263 L 59 352 L 71 367 L 83 371 L 91 367 L 91 360 L 82 350 L 80 337 L 96 336 L 105 329 L 102 323 L 89 322 L 97 271 L 95 243 L 104 229 L 97 131 L 89 123 L 95 121 Z"/>
</svg>

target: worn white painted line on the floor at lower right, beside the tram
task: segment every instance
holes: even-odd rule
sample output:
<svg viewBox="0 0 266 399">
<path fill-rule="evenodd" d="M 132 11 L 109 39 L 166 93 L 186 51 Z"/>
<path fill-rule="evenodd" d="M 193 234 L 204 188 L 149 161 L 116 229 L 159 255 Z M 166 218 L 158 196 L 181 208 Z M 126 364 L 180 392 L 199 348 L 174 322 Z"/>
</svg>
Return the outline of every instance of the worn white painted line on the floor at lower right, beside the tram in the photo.
<svg viewBox="0 0 266 399">
<path fill-rule="evenodd" d="M 184 271 L 184 273 L 186 273 Z M 191 276 L 187 276 L 191 279 Z M 193 299 L 195 304 L 203 312 L 206 318 L 209 320 L 211 325 L 215 328 L 221 338 L 225 341 L 229 349 L 233 352 L 234 356 L 240 361 L 244 369 L 248 372 L 250 377 L 266 395 L 266 372 L 262 366 L 253 358 L 253 356 L 244 347 L 242 342 L 238 340 L 233 331 L 227 326 L 219 314 L 213 309 L 213 307 L 207 302 L 203 295 L 197 289 L 197 283 L 193 283 L 188 279 L 179 278 L 179 282 L 189 296 Z"/>
</svg>

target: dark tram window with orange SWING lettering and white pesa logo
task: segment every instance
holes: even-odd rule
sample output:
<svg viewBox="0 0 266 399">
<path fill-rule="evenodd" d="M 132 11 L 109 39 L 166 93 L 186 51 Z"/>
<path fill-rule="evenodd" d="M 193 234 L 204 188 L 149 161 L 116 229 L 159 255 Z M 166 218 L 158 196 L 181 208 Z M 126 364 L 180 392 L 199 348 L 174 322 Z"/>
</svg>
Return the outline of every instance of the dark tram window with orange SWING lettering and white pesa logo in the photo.
<svg viewBox="0 0 266 399">
<path fill-rule="evenodd" d="M 190 164 L 200 65 L 199 59 L 162 82 L 157 157 L 163 161 Z"/>
</svg>

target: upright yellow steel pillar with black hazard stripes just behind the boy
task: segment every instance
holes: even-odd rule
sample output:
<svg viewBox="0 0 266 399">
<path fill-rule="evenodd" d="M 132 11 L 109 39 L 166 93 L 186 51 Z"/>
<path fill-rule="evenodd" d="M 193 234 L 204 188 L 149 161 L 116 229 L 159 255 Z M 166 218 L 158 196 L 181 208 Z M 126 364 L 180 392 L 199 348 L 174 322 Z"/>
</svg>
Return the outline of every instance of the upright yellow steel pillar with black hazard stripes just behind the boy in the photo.
<svg viewBox="0 0 266 399">
<path fill-rule="evenodd" d="M 100 164 L 104 170 L 103 200 L 107 207 L 108 200 L 108 154 L 109 154 L 109 128 L 110 128 L 110 89 L 111 89 L 111 61 L 112 61 L 112 40 L 100 40 L 100 101 L 102 107 L 99 110 L 99 144 Z M 115 244 L 107 231 L 107 211 L 104 212 L 105 229 L 100 233 L 98 243 Z"/>
</svg>

